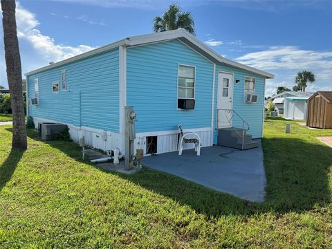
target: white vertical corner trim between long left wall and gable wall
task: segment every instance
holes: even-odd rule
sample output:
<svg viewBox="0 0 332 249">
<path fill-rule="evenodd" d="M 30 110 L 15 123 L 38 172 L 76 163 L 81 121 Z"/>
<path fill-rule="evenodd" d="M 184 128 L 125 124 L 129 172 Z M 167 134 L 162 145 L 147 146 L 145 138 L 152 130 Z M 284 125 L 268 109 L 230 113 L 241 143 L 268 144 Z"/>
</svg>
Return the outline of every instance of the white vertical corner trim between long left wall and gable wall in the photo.
<svg viewBox="0 0 332 249">
<path fill-rule="evenodd" d="M 119 46 L 119 133 L 124 153 L 124 107 L 127 105 L 127 47 Z"/>
</svg>

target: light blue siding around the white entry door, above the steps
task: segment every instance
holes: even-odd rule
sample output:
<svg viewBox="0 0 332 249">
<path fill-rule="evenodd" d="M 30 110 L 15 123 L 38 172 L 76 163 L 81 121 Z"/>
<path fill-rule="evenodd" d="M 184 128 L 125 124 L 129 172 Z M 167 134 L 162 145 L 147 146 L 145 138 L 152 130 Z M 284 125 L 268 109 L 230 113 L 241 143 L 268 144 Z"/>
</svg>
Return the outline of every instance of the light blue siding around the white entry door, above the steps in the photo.
<svg viewBox="0 0 332 249">
<path fill-rule="evenodd" d="M 262 137 L 262 125 L 263 125 L 263 108 L 264 108 L 264 86 L 265 78 L 255 73 L 250 73 L 241 68 L 234 68 L 224 64 L 216 64 L 216 81 L 215 81 L 215 97 L 214 107 L 216 107 L 217 89 L 218 89 L 218 72 L 234 73 L 234 88 L 233 88 L 233 110 L 237 111 L 241 118 L 248 122 L 250 130 L 248 133 L 252 135 L 252 138 Z M 257 103 L 246 103 L 244 98 L 244 77 L 255 77 L 255 94 L 258 94 Z M 238 84 L 236 80 L 240 80 Z M 216 112 L 215 112 L 216 113 Z M 214 116 L 216 120 L 216 116 Z M 214 122 L 216 123 L 216 122 Z M 232 123 L 233 127 L 242 128 L 242 121 L 234 116 Z M 214 124 L 215 125 L 215 124 Z M 216 142 L 216 136 L 214 136 L 214 142 Z"/>
</svg>

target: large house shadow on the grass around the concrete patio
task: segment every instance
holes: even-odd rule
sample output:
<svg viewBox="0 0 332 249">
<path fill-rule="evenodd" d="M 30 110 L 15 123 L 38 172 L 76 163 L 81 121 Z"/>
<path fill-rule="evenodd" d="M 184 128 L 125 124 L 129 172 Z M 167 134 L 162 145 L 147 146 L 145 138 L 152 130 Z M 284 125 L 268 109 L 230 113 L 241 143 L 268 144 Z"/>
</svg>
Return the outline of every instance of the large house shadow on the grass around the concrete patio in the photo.
<svg viewBox="0 0 332 249">
<path fill-rule="evenodd" d="M 38 140 L 35 131 L 28 131 L 28 136 Z M 64 141 L 46 143 L 82 162 L 80 158 L 82 154 L 77 144 Z M 146 168 L 133 175 L 109 172 L 106 174 L 116 174 L 151 192 L 174 199 L 181 205 L 187 205 L 196 212 L 208 216 L 303 212 L 311 210 L 317 205 L 324 206 L 326 203 L 330 203 L 328 175 L 329 168 L 332 166 L 330 147 L 317 140 L 308 141 L 300 138 L 264 138 L 262 145 L 267 178 L 264 203 L 244 201 L 230 194 L 216 192 L 186 181 L 178 176 Z M 248 159 L 248 163 L 250 163 L 250 159 Z"/>
</svg>

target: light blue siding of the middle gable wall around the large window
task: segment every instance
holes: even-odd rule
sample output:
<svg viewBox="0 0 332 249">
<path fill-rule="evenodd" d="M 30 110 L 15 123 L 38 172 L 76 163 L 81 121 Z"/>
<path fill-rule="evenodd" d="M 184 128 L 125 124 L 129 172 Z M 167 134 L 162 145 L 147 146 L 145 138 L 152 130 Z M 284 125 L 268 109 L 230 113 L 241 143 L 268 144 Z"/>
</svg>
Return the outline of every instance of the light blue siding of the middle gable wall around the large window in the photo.
<svg viewBox="0 0 332 249">
<path fill-rule="evenodd" d="M 194 110 L 177 109 L 178 64 L 196 67 Z M 178 40 L 127 49 L 127 104 L 136 132 L 211 127 L 213 64 Z"/>
</svg>

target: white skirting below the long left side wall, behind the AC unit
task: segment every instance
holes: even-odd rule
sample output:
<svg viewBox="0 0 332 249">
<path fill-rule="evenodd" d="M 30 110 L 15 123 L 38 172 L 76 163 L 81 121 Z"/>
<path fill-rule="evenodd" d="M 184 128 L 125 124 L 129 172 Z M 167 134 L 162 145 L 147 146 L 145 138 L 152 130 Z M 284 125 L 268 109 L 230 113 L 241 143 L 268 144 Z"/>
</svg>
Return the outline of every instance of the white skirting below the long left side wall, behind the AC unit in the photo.
<svg viewBox="0 0 332 249">
<path fill-rule="evenodd" d="M 40 122 L 57 122 L 55 120 L 46 120 L 44 118 L 33 118 L 35 122 L 35 128 L 37 129 Z M 102 149 L 103 151 L 114 150 L 119 148 L 121 151 L 121 139 L 120 134 L 104 131 L 102 129 L 94 129 L 91 127 L 75 127 L 72 124 L 67 124 L 71 139 L 74 142 L 79 142 L 80 138 L 84 136 L 85 144 L 95 149 Z"/>
</svg>

